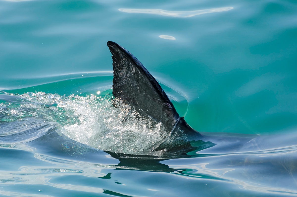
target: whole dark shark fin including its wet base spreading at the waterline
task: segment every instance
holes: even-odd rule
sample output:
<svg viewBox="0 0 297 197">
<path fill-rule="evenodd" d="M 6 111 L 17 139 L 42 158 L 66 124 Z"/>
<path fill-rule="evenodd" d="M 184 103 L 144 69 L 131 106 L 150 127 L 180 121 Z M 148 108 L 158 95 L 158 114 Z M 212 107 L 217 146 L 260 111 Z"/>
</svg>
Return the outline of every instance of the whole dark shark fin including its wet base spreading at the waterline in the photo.
<svg viewBox="0 0 297 197">
<path fill-rule="evenodd" d="M 214 146 L 178 115 L 172 102 L 149 71 L 129 51 L 108 41 L 113 59 L 113 96 L 132 106 L 140 115 L 149 116 L 163 125 L 168 137 L 151 151 L 186 153 L 192 149 Z"/>
</svg>

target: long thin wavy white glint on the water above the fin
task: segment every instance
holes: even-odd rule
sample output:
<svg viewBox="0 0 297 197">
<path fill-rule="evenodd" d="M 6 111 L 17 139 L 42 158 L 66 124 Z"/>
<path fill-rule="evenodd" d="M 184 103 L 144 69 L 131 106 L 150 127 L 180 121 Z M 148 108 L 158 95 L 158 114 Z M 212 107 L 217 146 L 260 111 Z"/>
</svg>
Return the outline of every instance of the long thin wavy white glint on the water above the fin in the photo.
<svg viewBox="0 0 297 197">
<path fill-rule="evenodd" d="M 157 14 L 162 16 L 172 16 L 172 17 L 180 17 L 187 18 L 200 14 L 207 14 L 213 12 L 224 12 L 228 10 L 232 10 L 233 7 L 218 7 L 211 8 L 206 10 L 193 10 L 193 11 L 170 11 L 170 10 L 161 10 L 161 9 L 130 9 L 130 8 L 120 8 L 119 11 L 127 12 L 127 13 L 141 13 L 141 14 Z"/>
</svg>

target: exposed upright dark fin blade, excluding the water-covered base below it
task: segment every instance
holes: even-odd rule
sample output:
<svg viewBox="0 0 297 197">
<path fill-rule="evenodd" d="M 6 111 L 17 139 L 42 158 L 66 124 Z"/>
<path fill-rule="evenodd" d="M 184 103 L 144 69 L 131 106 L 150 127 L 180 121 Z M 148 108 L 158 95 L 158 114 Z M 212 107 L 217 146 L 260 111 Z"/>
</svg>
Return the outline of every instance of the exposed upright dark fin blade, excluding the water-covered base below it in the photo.
<svg viewBox="0 0 297 197">
<path fill-rule="evenodd" d="M 113 96 L 171 132 L 180 117 L 159 83 L 129 51 L 111 41 L 107 46 L 113 55 Z"/>
</svg>

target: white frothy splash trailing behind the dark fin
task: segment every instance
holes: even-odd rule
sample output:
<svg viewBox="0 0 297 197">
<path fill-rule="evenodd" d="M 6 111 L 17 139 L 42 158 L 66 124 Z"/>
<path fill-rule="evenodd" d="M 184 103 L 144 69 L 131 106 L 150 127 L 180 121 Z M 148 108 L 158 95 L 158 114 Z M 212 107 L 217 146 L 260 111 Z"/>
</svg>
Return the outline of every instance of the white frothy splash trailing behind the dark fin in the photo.
<svg viewBox="0 0 297 197">
<path fill-rule="evenodd" d="M 30 124 L 41 120 L 47 124 L 55 122 L 62 134 L 101 150 L 143 154 L 168 136 L 161 123 L 141 117 L 127 105 L 114 107 L 111 94 L 102 97 L 43 92 L 6 95 L 10 99 L 0 103 L 1 123 L 28 118 L 33 118 Z"/>
</svg>

